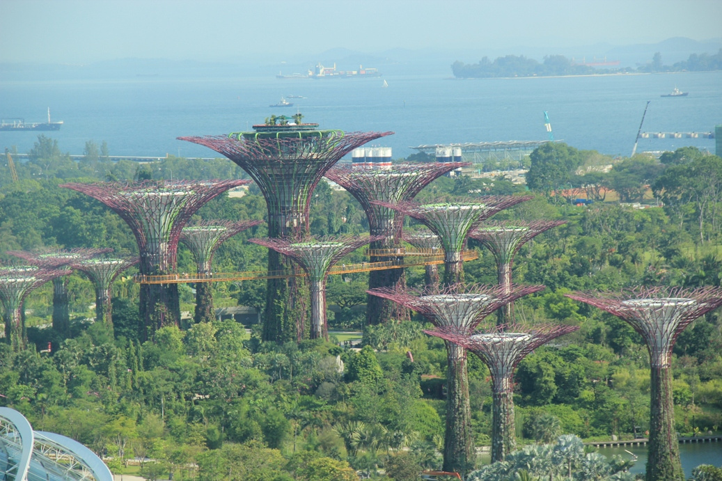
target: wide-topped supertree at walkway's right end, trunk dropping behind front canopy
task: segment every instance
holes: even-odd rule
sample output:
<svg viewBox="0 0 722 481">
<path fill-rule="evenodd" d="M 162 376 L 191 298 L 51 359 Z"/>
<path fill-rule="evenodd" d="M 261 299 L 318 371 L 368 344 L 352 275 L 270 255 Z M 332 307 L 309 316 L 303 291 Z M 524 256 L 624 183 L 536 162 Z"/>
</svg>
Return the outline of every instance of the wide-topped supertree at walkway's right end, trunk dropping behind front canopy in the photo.
<svg viewBox="0 0 722 481">
<path fill-rule="evenodd" d="M 532 198 L 532 196 L 483 196 L 437 204 L 419 204 L 411 201 L 398 204 L 375 203 L 413 217 L 439 236 L 444 248 L 443 283 L 452 285 L 464 280 L 464 261 L 461 254 L 471 229 L 500 210 Z"/>
</svg>

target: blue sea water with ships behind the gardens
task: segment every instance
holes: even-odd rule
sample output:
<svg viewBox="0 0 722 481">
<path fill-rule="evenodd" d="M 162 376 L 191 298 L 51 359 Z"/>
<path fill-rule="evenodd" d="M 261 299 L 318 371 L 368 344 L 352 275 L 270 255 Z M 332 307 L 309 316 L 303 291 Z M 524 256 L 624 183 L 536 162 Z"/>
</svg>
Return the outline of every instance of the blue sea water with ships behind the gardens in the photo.
<svg viewBox="0 0 722 481">
<path fill-rule="evenodd" d="M 388 87 L 383 86 L 386 79 Z M 661 97 L 675 86 L 687 97 Z M 271 108 L 281 97 L 290 108 Z M 29 151 L 44 134 L 62 152 L 108 144 L 110 155 L 214 157 L 177 136 L 251 129 L 271 114 L 303 113 L 323 129 L 393 131 L 373 145 L 406 157 L 420 144 L 547 140 L 630 155 L 647 100 L 643 131 L 710 132 L 722 123 L 722 72 L 520 79 L 452 79 L 446 74 L 388 74 L 368 79 L 243 77 L 205 69 L 139 75 L 0 72 L 0 118 L 43 121 L 51 108 L 60 131 L 0 132 L 0 151 Z M 714 153 L 713 139 L 640 139 L 638 152 L 692 145 Z"/>
</svg>

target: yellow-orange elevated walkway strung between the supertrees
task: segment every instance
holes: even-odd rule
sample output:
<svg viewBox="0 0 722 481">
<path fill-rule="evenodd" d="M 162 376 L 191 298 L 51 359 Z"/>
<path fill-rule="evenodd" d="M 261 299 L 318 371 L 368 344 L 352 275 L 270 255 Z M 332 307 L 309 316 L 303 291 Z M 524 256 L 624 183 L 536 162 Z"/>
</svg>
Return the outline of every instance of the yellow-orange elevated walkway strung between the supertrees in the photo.
<svg viewBox="0 0 722 481">
<path fill-rule="evenodd" d="M 396 250 L 396 249 L 389 249 Z M 401 249 L 406 251 L 406 249 Z M 431 250 L 431 249 L 429 249 Z M 417 253 L 416 250 L 408 250 L 412 254 L 381 254 L 386 256 L 412 256 L 413 260 L 407 261 L 386 261 L 386 262 L 362 262 L 361 264 L 336 264 L 329 271 L 329 274 L 349 274 L 351 272 L 369 272 L 380 271 L 384 269 L 403 269 L 404 267 L 425 266 L 429 264 L 443 264 L 443 250 L 439 250 L 436 254 L 425 255 Z M 417 254 L 413 254 L 417 253 Z M 464 251 L 462 254 L 464 261 L 473 261 L 479 259 L 477 251 Z M 188 284 L 190 282 L 228 282 L 258 279 L 281 279 L 283 277 L 306 277 L 305 272 L 298 274 L 289 274 L 287 271 L 246 271 L 246 272 L 219 272 L 217 274 L 166 274 L 166 275 L 142 275 L 134 276 L 134 281 L 141 284 Z"/>
</svg>

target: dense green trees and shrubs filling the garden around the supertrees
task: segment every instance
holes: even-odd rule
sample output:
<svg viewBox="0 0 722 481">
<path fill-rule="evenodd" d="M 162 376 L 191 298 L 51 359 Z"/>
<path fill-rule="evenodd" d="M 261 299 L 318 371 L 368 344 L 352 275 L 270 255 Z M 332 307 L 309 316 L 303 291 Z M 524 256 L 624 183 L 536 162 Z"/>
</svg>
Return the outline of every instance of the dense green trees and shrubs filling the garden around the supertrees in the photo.
<svg viewBox="0 0 722 481">
<path fill-rule="evenodd" d="M 57 187 L 61 179 L 102 180 L 109 173 L 134 178 L 140 172 L 136 165 L 104 162 L 100 152 L 97 160 L 93 152 L 86 160 L 70 160 L 44 136 L 33 150 L 31 160 L 15 162 L 17 183 L 0 171 L 1 251 L 41 246 L 137 251 L 133 235 L 116 215 L 87 196 Z M 564 169 L 550 161 L 555 158 L 564 159 Z M 547 285 L 547 290 L 519 300 L 516 313 L 527 321 L 581 326 L 560 342 L 539 348 L 519 366 L 515 404 L 521 444 L 550 441 L 560 433 L 631 438 L 635 426 L 648 428 L 649 365 L 642 340 L 627 324 L 565 298 L 565 292 L 721 284 L 722 192 L 714 187 L 722 183 L 713 178 L 722 175 L 722 162 L 695 149 L 681 149 L 662 160 L 659 164 L 636 156 L 613 162 L 561 144 L 544 147 L 531 157 L 531 178 L 536 175 L 539 184 L 530 179 L 530 186 L 538 195 L 495 216 L 567 220 L 539 235 L 516 257 L 515 282 Z M 614 167 L 605 173 L 599 166 L 607 162 Z M 214 177 L 235 175 L 228 161 L 200 168 Z M 194 176 L 199 165 L 175 157 L 143 171 L 170 178 L 170 169 L 173 178 L 199 178 Z M 615 175 L 638 175 L 630 199 L 648 202 L 653 193 L 664 207 L 635 209 L 615 202 L 618 197 L 604 194 L 613 188 Z M 461 176 L 438 179 L 419 199 L 515 190 L 522 188 Z M 576 207 L 569 202 L 595 193 L 593 204 Z M 362 209 L 351 196 L 332 191 L 326 183 L 316 194 L 313 233 L 367 230 Z M 606 202 L 601 202 L 603 195 Z M 264 215 L 263 198 L 251 187 L 242 197 L 214 199 L 197 217 L 242 220 Z M 263 270 L 266 249 L 245 240 L 265 233 L 264 226 L 258 226 L 231 238 L 219 248 L 214 269 Z M 466 280 L 495 283 L 492 256 L 473 243 L 470 247 L 479 249 L 480 259 L 464 266 Z M 360 251 L 344 259 L 347 264 L 362 260 Z M 184 248 L 178 263 L 180 272 L 195 271 Z M 175 480 L 353 480 L 354 470 L 377 476 L 386 466 L 401 480 L 411 479 L 409 470 L 417 467 L 440 467 L 446 355 L 440 339 L 421 332 L 421 319 L 370 326 L 365 347 L 358 352 L 347 343 L 261 342 L 255 315 L 249 316 L 248 331 L 233 320 L 186 324 L 183 330 L 160 329 L 155 342 L 141 343 L 138 287 L 130 274 L 113 287 L 113 333 L 86 320 L 92 318 L 95 297 L 90 282 L 78 274 L 70 277 L 68 287 L 74 316 L 68 339 L 58 339 L 45 327 L 51 287 L 30 295 L 30 341 L 42 348 L 48 341 L 58 342 L 60 348 L 13 353 L 0 344 L 1 405 L 23 412 L 35 429 L 63 433 L 108 456 L 114 470 L 137 460 L 147 479 L 173 473 Z M 422 285 L 423 268 L 408 269 L 406 277 L 409 285 Z M 332 328 L 362 328 L 366 283 L 364 273 L 331 276 Z M 192 312 L 191 289 L 183 286 L 183 311 Z M 217 306 L 263 306 L 265 282 L 215 283 L 213 289 Z M 722 425 L 721 329 L 718 313 L 710 313 L 682 333 L 675 347 L 674 415 L 680 433 L 706 433 Z M 490 440 L 488 377 L 487 368 L 469 358 L 472 428 L 479 446 Z M 587 461 L 602 465 L 600 459 Z"/>
</svg>

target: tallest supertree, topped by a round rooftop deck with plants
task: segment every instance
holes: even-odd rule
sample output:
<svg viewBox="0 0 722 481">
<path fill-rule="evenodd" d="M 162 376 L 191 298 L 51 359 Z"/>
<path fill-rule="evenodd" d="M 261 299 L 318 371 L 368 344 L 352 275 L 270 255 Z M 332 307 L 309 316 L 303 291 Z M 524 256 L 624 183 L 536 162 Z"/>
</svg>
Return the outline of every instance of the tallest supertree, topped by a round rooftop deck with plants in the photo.
<svg viewBox="0 0 722 481">
<path fill-rule="evenodd" d="M 178 139 L 209 147 L 245 170 L 266 198 L 269 237 L 300 240 L 310 232 L 311 193 L 326 171 L 356 147 L 392 132 L 318 130 L 318 123 L 276 125 L 276 120 L 271 118 L 265 125 L 254 125 L 251 132 Z M 269 251 L 268 269 L 297 272 L 276 251 Z M 306 309 L 303 295 L 298 295 L 299 288 L 295 276 L 269 278 L 264 340 L 303 338 Z"/>
</svg>

